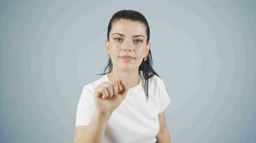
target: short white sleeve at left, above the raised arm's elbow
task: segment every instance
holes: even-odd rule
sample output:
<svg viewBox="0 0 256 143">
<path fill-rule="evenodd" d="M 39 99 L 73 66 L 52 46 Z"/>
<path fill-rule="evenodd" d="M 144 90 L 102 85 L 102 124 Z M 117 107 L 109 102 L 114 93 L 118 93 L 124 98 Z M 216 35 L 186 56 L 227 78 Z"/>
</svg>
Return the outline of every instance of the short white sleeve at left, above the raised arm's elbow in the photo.
<svg viewBox="0 0 256 143">
<path fill-rule="evenodd" d="M 83 87 L 76 109 L 76 126 L 87 126 L 93 116 L 95 104 L 93 94 L 87 86 Z"/>
</svg>

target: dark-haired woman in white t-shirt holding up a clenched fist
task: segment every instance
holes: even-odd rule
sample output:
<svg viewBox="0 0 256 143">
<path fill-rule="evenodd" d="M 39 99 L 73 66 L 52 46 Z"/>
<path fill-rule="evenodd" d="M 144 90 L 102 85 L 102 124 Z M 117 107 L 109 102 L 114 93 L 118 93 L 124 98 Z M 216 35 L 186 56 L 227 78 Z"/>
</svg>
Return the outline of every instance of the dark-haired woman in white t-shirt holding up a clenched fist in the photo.
<svg viewBox="0 0 256 143">
<path fill-rule="evenodd" d="M 170 142 L 165 84 L 152 69 L 150 27 L 137 11 L 109 21 L 109 72 L 83 88 L 73 142 Z M 105 69 L 105 71 L 106 71 Z"/>
</svg>

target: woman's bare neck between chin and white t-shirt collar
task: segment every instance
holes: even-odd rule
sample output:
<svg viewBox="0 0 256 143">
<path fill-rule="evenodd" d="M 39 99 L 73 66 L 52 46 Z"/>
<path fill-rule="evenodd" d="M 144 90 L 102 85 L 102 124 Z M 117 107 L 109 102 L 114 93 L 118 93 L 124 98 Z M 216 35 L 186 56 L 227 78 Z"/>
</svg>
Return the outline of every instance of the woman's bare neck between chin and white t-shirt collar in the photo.
<svg viewBox="0 0 256 143">
<path fill-rule="evenodd" d="M 134 71 L 119 71 L 112 69 L 112 71 L 107 74 L 110 81 L 122 80 L 127 89 L 137 86 L 140 82 L 140 75 L 138 70 Z"/>
</svg>

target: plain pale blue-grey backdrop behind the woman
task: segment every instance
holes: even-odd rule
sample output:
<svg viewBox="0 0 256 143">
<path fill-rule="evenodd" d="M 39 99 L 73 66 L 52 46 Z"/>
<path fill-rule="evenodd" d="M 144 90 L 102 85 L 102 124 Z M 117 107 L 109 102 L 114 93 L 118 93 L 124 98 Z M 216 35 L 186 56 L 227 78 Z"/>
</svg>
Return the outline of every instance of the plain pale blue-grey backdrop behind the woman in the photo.
<svg viewBox="0 0 256 143">
<path fill-rule="evenodd" d="M 0 1 L 0 142 L 71 142 L 114 12 L 150 24 L 173 142 L 256 142 L 255 1 Z"/>
</svg>

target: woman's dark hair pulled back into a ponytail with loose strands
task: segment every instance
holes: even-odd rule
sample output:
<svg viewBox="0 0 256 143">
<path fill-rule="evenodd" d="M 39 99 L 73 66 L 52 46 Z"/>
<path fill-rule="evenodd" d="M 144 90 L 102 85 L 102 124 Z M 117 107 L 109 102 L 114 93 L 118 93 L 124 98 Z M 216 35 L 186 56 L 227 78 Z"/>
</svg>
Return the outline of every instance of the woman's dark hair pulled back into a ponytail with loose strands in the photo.
<svg viewBox="0 0 256 143">
<path fill-rule="evenodd" d="M 139 21 L 142 24 L 145 24 L 146 33 L 147 33 L 147 44 L 149 44 L 149 41 L 150 41 L 150 26 L 147 24 L 147 19 L 140 12 L 133 11 L 133 10 L 117 11 L 111 17 L 111 19 L 109 21 L 108 31 L 107 31 L 107 40 L 108 41 L 109 41 L 109 32 L 111 31 L 112 24 L 114 24 L 114 22 L 118 21 L 119 19 L 128 19 L 128 20 L 131 20 L 131 21 Z M 144 89 L 145 89 L 145 93 L 147 95 L 147 99 L 148 99 L 148 79 L 150 79 L 154 75 L 158 76 L 156 71 L 152 68 L 152 62 L 153 62 L 152 61 L 152 54 L 151 54 L 151 51 L 149 50 L 149 52 L 147 54 L 147 60 L 146 61 L 143 60 L 142 64 L 140 64 L 140 67 L 139 67 L 139 71 L 142 71 L 143 77 L 145 79 Z M 113 67 L 112 61 L 109 58 L 108 64 L 107 64 L 106 68 L 104 69 L 104 73 L 99 74 L 99 75 L 108 74 L 109 72 L 111 72 L 112 67 Z M 109 69 L 109 72 L 106 72 L 106 69 Z"/>
</svg>

